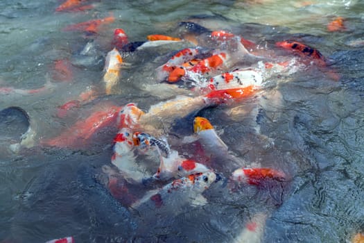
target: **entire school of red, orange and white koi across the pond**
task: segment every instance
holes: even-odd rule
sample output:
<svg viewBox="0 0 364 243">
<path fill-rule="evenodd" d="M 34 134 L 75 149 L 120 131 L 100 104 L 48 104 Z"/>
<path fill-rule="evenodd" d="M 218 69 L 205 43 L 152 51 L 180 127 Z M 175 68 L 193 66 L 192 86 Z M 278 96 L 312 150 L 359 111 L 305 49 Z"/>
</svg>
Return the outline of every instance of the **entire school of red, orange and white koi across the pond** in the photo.
<svg viewBox="0 0 364 243">
<path fill-rule="evenodd" d="M 55 11 L 78 12 L 96 7 L 97 3 L 93 1 L 67 0 Z M 110 15 L 71 24 L 62 31 L 97 35 L 115 18 Z M 344 31 L 343 22 L 342 17 L 337 17 L 328 24 L 327 30 Z M 19 146 L 85 149 L 88 142 L 97 137 L 98 131 L 105 126 L 114 127 L 118 132 L 110 137 L 110 144 L 113 144 L 110 165 L 100 169 L 107 175 L 106 187 L 110 194 L 123 206 L 143 217 L 153 217 L 157 213 L 173 217 L 184 212 L 184 208 L 205 206 L 209 198 L 204 196 L 204 192 L 215 183 L 220 183 L 223 190 L 234 194 L 241 187 L 289 181 L 290 175 L 279 168 L 259 167 L 245 161 L 229 149 L 209 119 L 195 114 L 205 108 L 219 106 L 232 110 L 253 99 L 259 102 L 268 92 L 266 87 L 272 87 L 272 78 L 279 76 L 282 82 L 290 81 L 292 74 L 309 68 L 322 70 L 332 81 L 337 81 L 340 76 L 328 67 L 329 60 L 318 49 L 298 40 L 281 40 L 275 43 L 275 47 L 262 49 L 254 41 L 227 30 L 208 29 L 193 22 L 181 22 L 179 25 L 188 28 L 177 32 L 176 36 L 157 33 L 146 36 L 146 41 L 135 42 L 130 42 L 122 26 L 112 30 L 114 35 L 110 36 L 110 51 L 104 53 L 100 86 L 90 87 L 78 99 L 60 104 L 57 116 L 67 117 L 69 110 L 79 109 L 96 97 L 117 94 L 116 87 L 123 83 L 123 68 L 130 65 L 127 53 L 183 43 L 186 47 L 171 49 L 162 59 L 155 57 L 155 84 L 144 87 L 153 92 L 159 86 L 167 85 L 175 91 L 174 97 L 150 104 L 148 110 L 142 110 L 132 100 L 123 106 L 105 103 L 94 108 L 86 119 L 69 125 L 59 135 L 40 138 L 31 144 L 24 139 Z M 85 47 L 83 55 L 88 48 Z M 69 81 L 73 76 L 68 60 L 56 61 L 54 68 L 57 72 L 53 75 L 55 80 Z M 37 94 L 53 88 L 54 84 L 46 81 L 44 87 L 37 90 L 1 87 L 0 94 Z M 193 123 L 189 124 L 191 134 L 180 138 L 177 144 L 200 144 L 200 154 L 186 156 L 178 150 L 179 146 L 171 146 L 168 139 L 173 133 L 175 121 L 189 115 L 193 115 Z M 33 129 L 31 132 L 33 137 L 36 131 Z M 231 167 L 235 168 L 234 171 L 229 171 Z M 145 187 L 144 196 L 133 194 L 130 188 L 134 186 Z M 150 212 L 153 212 L 153 216 L 150 216 Z M 234 242 L 261 242 L 268 217 L 263 212 L 254 215 L 241 232 L 235 233 Z M 357 239 L 362 236 L 356 235 L 354 242 L 361 242 Z M 75 240 L 64 237 L 49 242 Z"/>
</svg>

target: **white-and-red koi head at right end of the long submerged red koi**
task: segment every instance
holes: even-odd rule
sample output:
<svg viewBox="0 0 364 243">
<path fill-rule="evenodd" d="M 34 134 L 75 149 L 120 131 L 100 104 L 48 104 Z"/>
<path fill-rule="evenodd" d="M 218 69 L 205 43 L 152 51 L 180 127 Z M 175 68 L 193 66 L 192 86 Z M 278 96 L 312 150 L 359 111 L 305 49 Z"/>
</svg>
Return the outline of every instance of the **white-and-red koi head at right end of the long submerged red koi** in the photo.
<svg viewBox="0 0 364 243">
<path fill-rule="evenodd" d="M 121 109 L 118 116 L 119 128 L 135 128 L 144 112 L 135 103 L 128 103 Z"/>
</svg>

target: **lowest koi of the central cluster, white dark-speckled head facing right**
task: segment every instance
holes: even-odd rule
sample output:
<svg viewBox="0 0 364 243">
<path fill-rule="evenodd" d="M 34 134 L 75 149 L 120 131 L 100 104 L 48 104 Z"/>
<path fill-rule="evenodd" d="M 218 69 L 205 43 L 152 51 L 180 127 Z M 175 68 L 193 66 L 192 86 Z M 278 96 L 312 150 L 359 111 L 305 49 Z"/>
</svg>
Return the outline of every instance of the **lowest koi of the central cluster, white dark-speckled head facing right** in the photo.
<svg viewBox="0 0 364 243">
<path fill-rule="evenodd" d="M 207 199 L 202 192 L 216 181 L 213 171 L 191 174 L 165 185 L 159 190 L 147 192 L 139 201 L 132 204 L 138 212 L 155 212 L 162 210 L 170 215 L 177 215 L 187 205 L 203 206 Z"/>
</svg>

